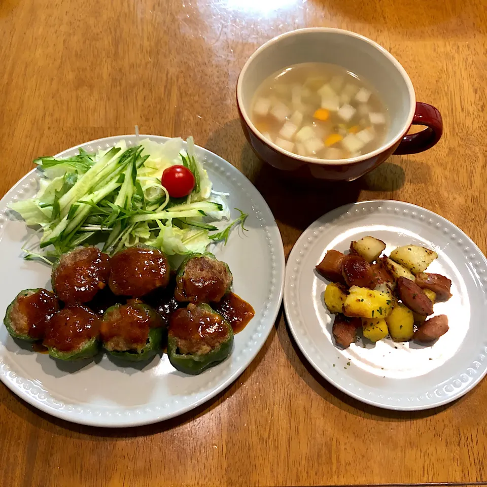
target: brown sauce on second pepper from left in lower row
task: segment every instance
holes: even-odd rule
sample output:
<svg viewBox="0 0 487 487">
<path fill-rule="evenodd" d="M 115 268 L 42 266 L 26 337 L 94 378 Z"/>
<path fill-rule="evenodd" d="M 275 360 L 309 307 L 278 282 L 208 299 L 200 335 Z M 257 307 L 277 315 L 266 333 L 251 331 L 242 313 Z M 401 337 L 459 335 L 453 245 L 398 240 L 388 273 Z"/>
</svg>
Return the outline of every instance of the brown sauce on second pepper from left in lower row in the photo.
<svg viewBox="0 0 487 487">
<path fill-rule="evenodd" d="M 99 322 L 99 317 L 85 306 L 66 306 L 49 321 L 44 345 L 61 352 L 74 352 L 86 341 L 98 336 Z"/>
</svg>

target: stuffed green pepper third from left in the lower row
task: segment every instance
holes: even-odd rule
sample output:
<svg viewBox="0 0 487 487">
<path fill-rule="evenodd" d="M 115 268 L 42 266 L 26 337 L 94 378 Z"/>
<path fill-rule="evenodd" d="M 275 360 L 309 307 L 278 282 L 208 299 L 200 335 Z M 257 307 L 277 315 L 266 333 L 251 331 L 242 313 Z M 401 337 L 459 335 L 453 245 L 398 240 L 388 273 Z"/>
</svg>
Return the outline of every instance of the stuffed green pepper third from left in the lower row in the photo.
<svg viewBox="0 0 487 487">
<path fill-rule="evenodd" d="M 101 322 L 103 347 L 124 360 L 148 360 L 161 349 L 166 328 L 149 305 L 130 300 L 107 309 Z"/>
</svg>

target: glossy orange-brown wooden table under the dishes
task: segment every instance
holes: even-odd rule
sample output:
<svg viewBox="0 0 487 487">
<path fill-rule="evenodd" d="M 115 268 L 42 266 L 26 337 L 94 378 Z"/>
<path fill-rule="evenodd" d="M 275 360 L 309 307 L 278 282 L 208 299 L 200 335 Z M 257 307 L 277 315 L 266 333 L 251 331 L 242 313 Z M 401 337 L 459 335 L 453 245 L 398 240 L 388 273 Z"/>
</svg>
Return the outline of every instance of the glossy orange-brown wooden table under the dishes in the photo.
<svg viewBox="0 0 487 487">
<path fill-rule="evenodd" d="M 138 124 L 192 134 L 245 173 L 274 212 L 286 255 L 318 216 L 374 198 L 424 206 L 485 253 L 486 12 L 483 0 L 3 0 L 0 192 L 36 156 Z M 276 178 L 242 135 L 235 83 L 260 44 L 305 26 L 355 30 L 391 51 L 416 97 L 441 111 L 441 142 L 326 191 Z M 487 380 L 432 411 L 361 404 L 305 363 L 282 311 L 246 372 L 175 420 L 97 429 L 52 419 L 3 385 L 0 400 L 2 487 L 487 480 Z"/>
</svg>

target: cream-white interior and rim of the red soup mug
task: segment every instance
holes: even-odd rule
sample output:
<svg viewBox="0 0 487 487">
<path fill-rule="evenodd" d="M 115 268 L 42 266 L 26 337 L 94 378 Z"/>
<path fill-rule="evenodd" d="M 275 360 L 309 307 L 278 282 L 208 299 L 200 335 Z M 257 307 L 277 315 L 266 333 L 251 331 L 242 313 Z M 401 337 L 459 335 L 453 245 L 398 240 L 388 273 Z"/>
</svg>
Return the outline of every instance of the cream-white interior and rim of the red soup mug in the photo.
<svg viewBox="0 0 487 487">
<path fill-rule="evenodd" d="M 270 142 L 250 119 L 252 99 L 260 84 L 273 73 L 301 62 L 338 64 L 368 80 L 379 92 L 391 126 L 384 144 L 375 151 L 350 159 L 297 156 Z M 355 32 L 327 27 L 293 30 L 271 39 L 252 54 L 237 82 L 237 103 L 243 118 L 261 140 L 275 151 L 321 165 L 353 163 L 372 158 L 392 147 L 411 125 L 416 97 L 411 80 L 399 61 L 382 46 Z"/>
</svg>

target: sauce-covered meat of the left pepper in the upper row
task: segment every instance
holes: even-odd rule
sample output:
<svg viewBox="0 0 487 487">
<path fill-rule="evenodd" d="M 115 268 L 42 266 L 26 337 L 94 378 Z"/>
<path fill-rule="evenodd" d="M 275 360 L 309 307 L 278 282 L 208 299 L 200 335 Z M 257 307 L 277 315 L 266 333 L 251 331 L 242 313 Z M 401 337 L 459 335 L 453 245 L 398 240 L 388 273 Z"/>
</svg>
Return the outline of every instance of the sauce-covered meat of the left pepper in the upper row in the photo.
<svg viewBox="0 0 487 487">
<path fill-rule="evenodd" d="M 53 272 L 53 286 L 66 304 L 86 303 L 108 283 L 110 257 L 96 247 L 76 249 L 61 257 Z"/>
</svg>

